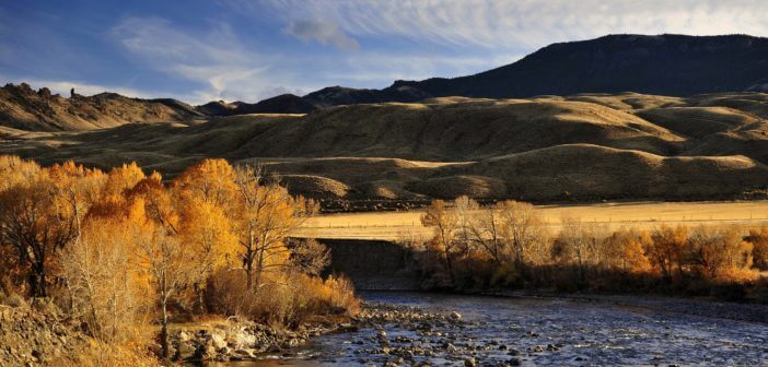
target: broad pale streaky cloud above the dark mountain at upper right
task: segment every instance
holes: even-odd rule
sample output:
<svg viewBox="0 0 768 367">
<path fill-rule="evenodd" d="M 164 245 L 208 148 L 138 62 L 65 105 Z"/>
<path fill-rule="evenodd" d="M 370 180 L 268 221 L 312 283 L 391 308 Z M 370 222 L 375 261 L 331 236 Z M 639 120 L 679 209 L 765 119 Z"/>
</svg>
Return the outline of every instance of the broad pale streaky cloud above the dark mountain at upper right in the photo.
<svg viewBox="0 0 768 367">
<path fill-rule="evenodd" d="M 532 48 L 608 33 L 768 35 L 764 0 L 271 0 L 269 4 L 288 22 L 315 19 L 337 24 L 351 37 L 388 35 L 453 47 Z"/>
</svg>

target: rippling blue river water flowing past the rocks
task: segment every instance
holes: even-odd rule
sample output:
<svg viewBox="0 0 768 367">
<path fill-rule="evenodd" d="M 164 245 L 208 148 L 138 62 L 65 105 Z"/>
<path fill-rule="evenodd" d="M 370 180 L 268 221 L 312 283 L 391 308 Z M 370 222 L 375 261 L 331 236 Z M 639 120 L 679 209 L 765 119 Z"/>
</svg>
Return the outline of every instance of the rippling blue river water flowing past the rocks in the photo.
<svg viewBox="0 0 768 367">
<path fill-rule="evenodd" d="M 362 293 L 366 301 L 462 315 L 427 335 L 384 324 L 387 347 L 433 351 L 405 359 L 382 353 L 380 331 L 323 335 L 295 351 L 226 366 L 349 366 L 387 362 L 464 366 L 768 366 L 768 325 L 643 307 L 548 298 L 487 297 L 408 292 Z M 450 350 L 444 346 L 451 344 Z"/>
</svg>

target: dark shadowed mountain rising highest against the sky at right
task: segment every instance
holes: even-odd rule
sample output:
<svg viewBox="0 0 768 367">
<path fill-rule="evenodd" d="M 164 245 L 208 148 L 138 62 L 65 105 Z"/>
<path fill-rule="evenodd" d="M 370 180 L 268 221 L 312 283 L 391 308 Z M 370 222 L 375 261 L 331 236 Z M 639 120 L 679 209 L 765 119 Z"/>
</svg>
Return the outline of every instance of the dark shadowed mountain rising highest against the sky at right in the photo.
<svg viewBox="0 0 768 367">
<path fill-rule="evenodd" d="M 578 63 L 569 67 L 571 62 Z M 316 95 L 323 91 L 329 96 L 318 102 Z M 326 87 L 299 98 L 319 109 L 443 96 L 520 98 L 620 92 L 691 96 L 766 91 L 768 38 L 625 34 L 555 43 L 511 64 L 473 75 L 398 80 L 383 90 Z"/>
</svg>

